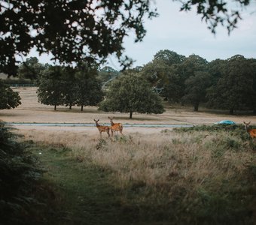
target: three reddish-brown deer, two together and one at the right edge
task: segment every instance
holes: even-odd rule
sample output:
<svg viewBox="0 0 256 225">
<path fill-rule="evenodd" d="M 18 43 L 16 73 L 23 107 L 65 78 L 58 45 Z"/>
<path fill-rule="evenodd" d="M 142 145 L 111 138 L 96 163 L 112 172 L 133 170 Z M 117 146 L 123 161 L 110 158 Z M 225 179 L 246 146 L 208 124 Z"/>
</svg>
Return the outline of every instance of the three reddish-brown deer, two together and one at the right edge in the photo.
<svg viewBox="0 0 256 225">
<path fill-rule="evenodd" d="M 108 118 L 110 119 L 110 123 L 111 123 L 111 126 L 102 126 L 102 125 L 99 125 L 99 119 L 96 120 L 94 118 L 94 121 L 96 123 L 96 127 L 98 128 L 99 130 L 99 134 L 100 136 L 102 137 L 102 132 L 106 132 L 108 133 L 108 138 L 110 137 L 110 133 L 109 131 L 111 131 L 111 136 L 114 135 L 114 133 L 117 135 L 117 132 L 119 131 L 122 135 L 122 131 L 123 131 L 123 124 L 120 124 L 120 123 L 117 123 L 115 124 L 113 122 L 113 119 L 114 117 L 109 117 Z M 248 123 L 246 123 L 245 121 L 243 122 L 245 124 L 245 130 L 247 131 L 247 133 L 249 134 L 249 136 L 251 136 L 251 138 L 254 138 L 256 137 L 256 129 L 251 129 L 249 128 L 250 124 L 251 124 L 251 121 L 249 121 Z"/>
</svg>

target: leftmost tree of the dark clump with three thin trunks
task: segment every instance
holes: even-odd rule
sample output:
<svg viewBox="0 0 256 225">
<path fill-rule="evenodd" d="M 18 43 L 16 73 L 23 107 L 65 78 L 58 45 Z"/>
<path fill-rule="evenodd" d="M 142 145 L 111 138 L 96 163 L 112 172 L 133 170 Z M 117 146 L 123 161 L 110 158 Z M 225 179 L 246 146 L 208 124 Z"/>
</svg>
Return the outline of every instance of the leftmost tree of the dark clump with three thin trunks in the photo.
<svg viewBox="0 0 256 225">
<path fill-rule="evenodd" d="M 38 80 L 38 101 L 41 104 L 56 106 L 63 104 L 63 68 L 60 66 L 50 66 Z"/>
</svg>

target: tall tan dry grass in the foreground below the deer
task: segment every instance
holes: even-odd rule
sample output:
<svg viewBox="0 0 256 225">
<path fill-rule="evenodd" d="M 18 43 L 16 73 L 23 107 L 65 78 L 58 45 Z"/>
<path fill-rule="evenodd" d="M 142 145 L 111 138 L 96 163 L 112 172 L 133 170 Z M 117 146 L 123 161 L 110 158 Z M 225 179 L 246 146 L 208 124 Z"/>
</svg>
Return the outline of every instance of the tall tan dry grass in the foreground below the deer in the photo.
<svg viewBox="0 0 256 225">
<path fill-rule="evenodd" d="M 120 201 L 128 208 L 136 205 L 138 214 L 154 208 L 154 216 L 182 217 L 185 222 L 253 220 L 248 211 L 255 213 L 249 205 L 256 202 L 256 157 L 250 139 L 220 130 L 130 133 L 112 140 L 69 132 L 23 134 L 34 142 L 71 149 L 69 156 L 78 163 L 110 171 L 123 192 Z"/>
</svg>

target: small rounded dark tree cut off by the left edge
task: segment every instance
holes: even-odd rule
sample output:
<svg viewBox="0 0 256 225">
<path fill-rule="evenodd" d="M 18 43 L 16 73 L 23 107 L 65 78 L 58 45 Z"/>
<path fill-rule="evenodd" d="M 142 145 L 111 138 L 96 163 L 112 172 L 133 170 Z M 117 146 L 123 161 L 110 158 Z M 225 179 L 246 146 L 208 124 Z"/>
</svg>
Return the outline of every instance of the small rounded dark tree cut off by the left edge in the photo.
<svg viewBox="0 0 256 225">
<path fill-rule="evenodd" d="M 0 79 L 0 110 L 18 107 L 20 102 L 20 95 L 14 92 L 9 86 L 5 85 Z"/>
</svg>

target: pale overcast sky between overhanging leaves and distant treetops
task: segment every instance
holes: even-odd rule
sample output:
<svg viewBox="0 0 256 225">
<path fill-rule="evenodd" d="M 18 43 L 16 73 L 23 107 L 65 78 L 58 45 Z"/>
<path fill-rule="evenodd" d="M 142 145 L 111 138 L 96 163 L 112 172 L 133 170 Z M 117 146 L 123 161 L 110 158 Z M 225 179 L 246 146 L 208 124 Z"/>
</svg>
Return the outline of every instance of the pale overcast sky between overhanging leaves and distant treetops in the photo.
<svg viewBox="0 0 256 225">
<path fill-rule="evenodd" d="M 135 66 L 151 62 L 154 55 L 169 49 L 180 55 L 200 55 L 208 62 L 216 58 L 227 59 L 233 55 L 244 55 L 245 58 L 256 58 L 256 1 L 252 0 L 247 10 L 242 10 L 242 21 L 238 28 L 227 34 L 224 28 L 218 28 L 214 35 L 201 21 L 195 11 L 180 12 L 178 2 L 157 0 L 159 17 L 145 20 L 147 34 L 141 43 L 134 43 L 133 34 L 126 37 L 125 54 L 136 60 Z M 254 12 L 254 13 L 252 13 Z M 32 52 L 29 56 L 38 56 Z M 49 62 L 49 57 L 39 58 L 39 62 Z M 110 57 L 109 66 L 120 70 L 114 57 Z"/>
</svg>

